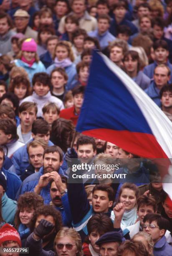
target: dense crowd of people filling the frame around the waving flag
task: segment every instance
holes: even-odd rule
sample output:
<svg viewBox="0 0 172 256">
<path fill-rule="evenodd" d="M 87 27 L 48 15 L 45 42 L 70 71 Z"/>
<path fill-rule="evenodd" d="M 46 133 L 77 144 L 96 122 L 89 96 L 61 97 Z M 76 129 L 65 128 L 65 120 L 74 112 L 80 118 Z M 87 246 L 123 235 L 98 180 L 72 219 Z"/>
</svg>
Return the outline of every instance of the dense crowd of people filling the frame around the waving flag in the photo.
<svg viewBox="0 0 172 256">
<path fill-rule="evenodd" d="M 0 256 L 172 256 L 157 166 L 76 132 L 94 50 L 172 121 L 172 1 L 0 0 Z"/>
</svg>

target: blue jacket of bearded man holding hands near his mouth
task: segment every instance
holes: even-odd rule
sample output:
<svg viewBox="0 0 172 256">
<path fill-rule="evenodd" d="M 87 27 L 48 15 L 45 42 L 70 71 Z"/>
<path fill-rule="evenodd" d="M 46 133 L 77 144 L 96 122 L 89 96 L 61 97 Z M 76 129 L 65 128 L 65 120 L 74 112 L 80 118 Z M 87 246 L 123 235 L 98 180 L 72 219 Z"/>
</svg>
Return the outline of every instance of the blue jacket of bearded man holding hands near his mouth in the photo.
<svg viewBox="0 0 172 256">
<path fill-rule="evenodd" d="M 66 176 L 61 168 L 59 169 L 58 173 L 63 176 Z M 25 180 L 23 180 L 23 182 L 18 190 L 16 199 L 18 199 L 19 195 L 22 195 L 25 192 L 30 192 L 30 191 L 33 192 L 34 188 L 36 187 L 36 185 L 39 182 L 40 176 L 42 176 L 42 175 L 43 175 L 43 167 L 41 167 L 39 169 L 39 172 L 31 174 L 29 177 L 27 177 Z M 40 195 L 41 195 L 41 197 L 43 197 L 45 204 L 49 204 L 51 202 L 50 184 L 48 184 L 46 187 L 43 187 L 43 189 L 41 189 Z"/>
</svg>

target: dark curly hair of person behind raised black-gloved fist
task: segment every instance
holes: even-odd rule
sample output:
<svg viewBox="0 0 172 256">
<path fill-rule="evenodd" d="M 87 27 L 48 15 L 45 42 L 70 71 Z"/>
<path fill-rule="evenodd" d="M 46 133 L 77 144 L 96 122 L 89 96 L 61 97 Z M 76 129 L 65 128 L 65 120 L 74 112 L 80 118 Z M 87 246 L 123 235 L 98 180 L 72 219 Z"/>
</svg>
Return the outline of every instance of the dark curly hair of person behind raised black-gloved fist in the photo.
<svg viewBox="0 0 172 256">
<path fill-rule="evenodd" d="M 52 216 L 55 221 L 55 233 L 58 233 L 62 227 L 62 218 L 60 211 L 56 210 L 53 205 L 43 205 L 34 212 L 32 222 L 30 223 L 30 232 L 33 232 L 39 215 Z"/>
</svg>

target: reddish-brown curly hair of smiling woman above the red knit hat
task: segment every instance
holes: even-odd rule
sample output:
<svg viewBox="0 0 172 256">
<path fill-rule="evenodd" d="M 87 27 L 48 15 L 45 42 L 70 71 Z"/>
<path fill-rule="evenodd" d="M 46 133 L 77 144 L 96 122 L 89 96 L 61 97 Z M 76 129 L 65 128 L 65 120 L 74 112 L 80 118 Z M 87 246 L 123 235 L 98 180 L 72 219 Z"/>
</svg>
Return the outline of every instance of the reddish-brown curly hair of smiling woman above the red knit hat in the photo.
<svg viewBox="0 0 172 256">
<path fill-rule="evenodd" d="M 18 227 L 21 223 L 20 221 L 20 210 L 24 208 L 33 208 L 36 210 L 38 207 L 43 206 L 43 198 L 40 195 L 37 195 L 34 192 L 25 192 L 23 195 L 20 195 L 17 203 L 18 209 L 15 213 L 15 228 L 18 230 Z"/>
</svg>

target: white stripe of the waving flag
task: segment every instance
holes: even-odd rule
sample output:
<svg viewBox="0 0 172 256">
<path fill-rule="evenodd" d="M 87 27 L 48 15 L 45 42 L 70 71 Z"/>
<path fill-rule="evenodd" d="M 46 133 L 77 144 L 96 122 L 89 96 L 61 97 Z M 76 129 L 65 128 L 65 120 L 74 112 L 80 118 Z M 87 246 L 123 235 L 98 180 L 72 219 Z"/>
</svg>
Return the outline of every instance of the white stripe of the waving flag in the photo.
<svg viewBox="0 0 172 256">
<path fill-rule="evenodd" d="M 136 101 L 144 118 L 147 120 L 157 142 L 165 154 L 172 158 L 172 122 L 153 100 L 116 64 L 104 54 L 99 53 L 107 67 L 125 84 L 128 91 Z"/>
</svg>

